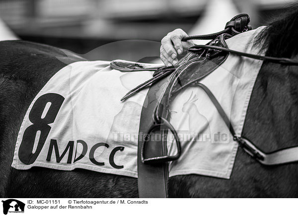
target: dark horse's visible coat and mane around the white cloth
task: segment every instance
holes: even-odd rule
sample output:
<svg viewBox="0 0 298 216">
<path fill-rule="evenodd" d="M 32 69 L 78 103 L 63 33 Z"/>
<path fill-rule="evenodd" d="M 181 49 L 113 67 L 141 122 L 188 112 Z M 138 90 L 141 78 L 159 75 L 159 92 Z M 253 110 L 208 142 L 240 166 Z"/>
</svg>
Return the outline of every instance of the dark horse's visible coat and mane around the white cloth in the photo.
<svg viewBox="0 0 298 216">
<path fill-rule="evenodd" d="M 297 58 L 297 29 L 298 9 L 271 23 L 254 43 L 266 46 L 268 56 Z M 82 59 L 23 41 L 1 42 L 0 56 L 0 197 L 138 197 L 136 178 L 83 169 L 11 167 L 18 130 L 31 101 L 66 66 L 63 62 Z M 264 152 L 272 152 L 296 146 L 297 135 L 298 68 L 264 61 L 243 136 Z M 298 164 L 265 166 L 238 149 L 230 179 L 174 176 L 169 179 L 169 197 L 298 197 Z"/>
</svg>

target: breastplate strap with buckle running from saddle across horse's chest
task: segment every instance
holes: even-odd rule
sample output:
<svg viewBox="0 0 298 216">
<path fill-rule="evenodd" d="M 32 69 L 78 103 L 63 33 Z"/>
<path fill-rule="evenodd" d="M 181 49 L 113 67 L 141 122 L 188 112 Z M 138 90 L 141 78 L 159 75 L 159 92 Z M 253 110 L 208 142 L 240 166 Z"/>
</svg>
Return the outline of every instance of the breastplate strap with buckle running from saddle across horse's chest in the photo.
<svg viewBox="0 0 298 216">
<path fill-rule="evenodd" d="M 298 146 L 278 150 L 271 153 L 264 153 L 262 150 L 257 148 L 247 138 L 238 136 L 235 134 L 233 126 L 228 119 L 223 107 L 220 105 L 213 93 L 202 83 L 196 83 L 195 85 L 201 87 L 208 95 L 214 106 L 217 108 L 225 124 L 228 126 L 233 139 L 238 142 L 239 146 L 248 153 L 251 157 L 255 158 L 258 162 L 264 165 L 278 165 L 282 163 L 290 163 L 298 161 Z"/>
</svg>

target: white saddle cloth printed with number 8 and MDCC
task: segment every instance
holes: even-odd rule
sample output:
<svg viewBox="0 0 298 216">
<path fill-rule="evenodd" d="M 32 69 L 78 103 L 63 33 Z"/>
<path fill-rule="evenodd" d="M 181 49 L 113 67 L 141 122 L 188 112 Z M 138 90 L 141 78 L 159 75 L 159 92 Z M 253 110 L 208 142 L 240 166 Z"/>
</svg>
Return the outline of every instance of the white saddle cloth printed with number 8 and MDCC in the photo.
<svg viewBox="0 0 298 216">
<path fill-rule="evenodd" d="M 257 54 L 258 49 L 251 42 L 261 29 L 226 40 L 228 48 Z M 61 170 L 84 168 L 138 176 L 139 124 L 148 89 L 124 102 L 120 102 L 120 99 L 129 90 L 151 78 L 152 72 L 123 73 L 113 70 L 109 63 L 75 62 L 62 68 L 47 82 L 23 119 L 12 167 L 29 169 L 42 166 Z M 223 106 L 236 134 L 242 132 L 261 64 L 261 60 L 229 54 L 220 67 L 202 80 Z M 31 134 L 35 137 L 34 143 L 22 143 L 24 133 L 28 133 L 25 130 L 33 124 L 29 113 L 32 111 L 30 115 L 37 115 L 31 110 L 33 105 L 39 103 L 37 99 L 49 93 L 61 95 L 64 101 L 54 122 L 48 124 L 51 129 L 36 160 L 25 164 L 26 157 L 26 160 L 19 157 L 22 154 L 19 152 L 22 149 L 20 145 L 33 146 L 32 153 L 36 153 L 40 145 L 40 132 Z M 47 118 L 45 116 L 53 109 L 53 104 L 47 103 L 39 118 Z M 229 178 L 238 144 L 232 140 L 228 128 L 206 93 L 199 87 L 189 87 L 179 93 L 170 110 L 170 122 L 180 131 L 182 155 L 170 163 L 169 175 L 201 174 Z M 192 136 L 194 134 L 198 136 Z M 170 152 L 174 151 L 170 141 L 168 148 Z"/>
</svg>

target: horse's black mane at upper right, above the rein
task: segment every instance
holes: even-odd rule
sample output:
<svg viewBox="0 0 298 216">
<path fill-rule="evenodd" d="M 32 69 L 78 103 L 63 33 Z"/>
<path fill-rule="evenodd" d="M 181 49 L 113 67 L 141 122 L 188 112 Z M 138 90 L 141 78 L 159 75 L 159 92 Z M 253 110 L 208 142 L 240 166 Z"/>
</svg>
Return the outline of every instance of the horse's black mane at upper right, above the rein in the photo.
<svg viewBox="0 0 298 216">
<path fill-rule="evenodd" d="M 298 3 L 276 17 L 257 37 L 266 55 L 291 58 L 298 54 Z"/>
</svg>

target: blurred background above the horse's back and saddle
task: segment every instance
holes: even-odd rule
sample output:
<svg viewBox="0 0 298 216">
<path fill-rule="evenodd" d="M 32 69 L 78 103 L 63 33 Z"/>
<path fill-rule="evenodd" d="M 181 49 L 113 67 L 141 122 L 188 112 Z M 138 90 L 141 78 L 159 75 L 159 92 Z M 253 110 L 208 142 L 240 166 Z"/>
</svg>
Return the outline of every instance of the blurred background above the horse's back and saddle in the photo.
<svg viewBox="0 0 298 216">
<path fill-rule="evenodd" d="M 248 13 L 253 28 L 257 28 L 293 2 L 0 0 L 0 40 L 20 38 L 45 43 L 86 54 L 89 59 L 138 60 L 148 52 L 158 56 L 158 42 L 176 28 L 189 35 L 214 33 L 223 30 L 225 23 L 238 13 Z"/>
</svg>

